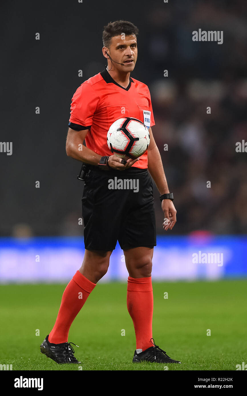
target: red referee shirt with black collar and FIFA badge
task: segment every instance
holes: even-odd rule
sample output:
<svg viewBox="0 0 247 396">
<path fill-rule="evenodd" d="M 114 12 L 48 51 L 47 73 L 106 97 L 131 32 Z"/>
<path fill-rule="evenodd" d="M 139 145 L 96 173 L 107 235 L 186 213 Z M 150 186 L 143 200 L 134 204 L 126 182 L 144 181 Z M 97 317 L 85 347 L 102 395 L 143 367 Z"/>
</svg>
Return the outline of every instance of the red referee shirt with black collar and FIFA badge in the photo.
<svg viewBox="0 0 247 396">
<path fill-rule="evenodd" d="M 119 118 L 138 118 L 147 128 L 155 125 L 147 85 L 130 77 L 128 87 L 123 88 L 106 69 L 77 88 L 70 114 L 69 127 L 77 131 L 89 129 L 86 147 L 101 156 L 112 155 L 107 145 L 107 132 Z M 147 168 L 147 151 L 133 166 Z"/>
</svg>

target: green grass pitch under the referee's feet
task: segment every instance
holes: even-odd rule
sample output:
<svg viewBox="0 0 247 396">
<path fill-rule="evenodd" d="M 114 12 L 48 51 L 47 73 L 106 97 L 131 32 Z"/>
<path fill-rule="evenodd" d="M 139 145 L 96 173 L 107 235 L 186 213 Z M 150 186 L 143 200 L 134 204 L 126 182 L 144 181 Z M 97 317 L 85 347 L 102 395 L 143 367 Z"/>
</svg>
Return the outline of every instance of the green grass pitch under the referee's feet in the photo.
<svg viewBox="0 0 247 396">
<path fill-rule="evenodd" d="M 12 364 L 13 370 L 165 369 L 164 364 L 132 363 L 134 327 L 126 284 L 118 282 L 98 284 L 71 326 L 69 341 L 80 346 L 74 346 L 80 367 L 57 365 L 40 354 L 65 286 L 0 286 L 0 364 Z M 182 362 L 168 364 L 168 370 L 236 370 L 236 364 L 247 363 L 246 290 L 247 280 L 153 282 L 153 338 Z"/>
</svg>

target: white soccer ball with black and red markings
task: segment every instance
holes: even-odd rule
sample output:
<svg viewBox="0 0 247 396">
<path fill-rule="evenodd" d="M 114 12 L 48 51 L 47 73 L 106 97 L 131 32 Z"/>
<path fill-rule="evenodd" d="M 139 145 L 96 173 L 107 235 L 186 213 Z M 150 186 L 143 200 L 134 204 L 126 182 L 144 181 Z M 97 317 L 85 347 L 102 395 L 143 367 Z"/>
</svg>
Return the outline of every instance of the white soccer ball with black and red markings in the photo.
<svg viewBox="0 0 247 396">
<path fill-rule="evenodd" d="M 107 145 L 118 157 L 138 158 L 147 150 L 149 143 L 149 131 L 137 118 L 119 118 L 107 132 Z"/>
</svg>

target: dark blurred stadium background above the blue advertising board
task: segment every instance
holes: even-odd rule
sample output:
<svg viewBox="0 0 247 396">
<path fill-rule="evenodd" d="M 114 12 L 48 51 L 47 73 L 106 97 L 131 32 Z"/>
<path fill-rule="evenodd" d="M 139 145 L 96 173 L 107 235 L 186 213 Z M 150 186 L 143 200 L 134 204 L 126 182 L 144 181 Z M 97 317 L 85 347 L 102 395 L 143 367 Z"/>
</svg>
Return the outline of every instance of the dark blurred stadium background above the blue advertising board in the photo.
<svg viewBox="0 0 247 396">
<path fill-rule="evenodd" d="M 153 135 L 178 212 L 172 234 L 246 233 L 247 154 L 236 152 L 247 141 L 245 0 L 11 1 L 1 15 L 0 141 L 13 142 L 11 156 L 0 153 L 1 236 L 83 233 L 80 162 L 65 152 L 70 104 L 104 69 L 103 26 L 118 19 L 140 29 L 131 76 L 151 92 Z M 223 44 L 193 42 L 199 28 L 223 30 Z"/>
</svg>

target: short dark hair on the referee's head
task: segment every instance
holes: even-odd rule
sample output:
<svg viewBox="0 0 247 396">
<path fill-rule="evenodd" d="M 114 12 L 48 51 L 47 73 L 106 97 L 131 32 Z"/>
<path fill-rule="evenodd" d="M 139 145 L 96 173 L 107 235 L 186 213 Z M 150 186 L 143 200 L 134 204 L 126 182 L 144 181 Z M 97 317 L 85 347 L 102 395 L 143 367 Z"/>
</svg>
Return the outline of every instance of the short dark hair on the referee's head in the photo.
<svg viewBox="0 0 247 396">
<path fill-rule="evenodd" d="M 109 22 L 108 25 L 104 26 L 103 30 L 103 46 L 109 48 L 111 44 L 111 38 L 114 36 L 119 36 L 124 33 L 126 36 L 130 36 L 134 34 L 137 36 L 139 32 L 138 27 L 133 25 L 133 23 L 129 21 L 115 21 Z"/>
</svg>

